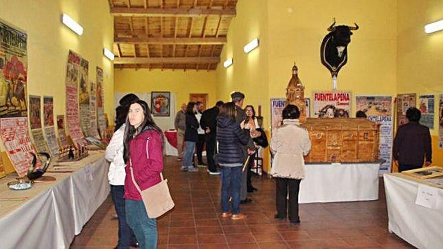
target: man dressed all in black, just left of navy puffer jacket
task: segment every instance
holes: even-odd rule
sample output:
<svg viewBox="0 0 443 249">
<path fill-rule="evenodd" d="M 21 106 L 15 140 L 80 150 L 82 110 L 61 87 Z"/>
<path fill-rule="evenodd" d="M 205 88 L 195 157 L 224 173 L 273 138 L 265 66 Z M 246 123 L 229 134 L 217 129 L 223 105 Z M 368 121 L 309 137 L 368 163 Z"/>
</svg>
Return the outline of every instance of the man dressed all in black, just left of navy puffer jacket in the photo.
<svg viewBox="0 0 443 249">
<path fill-rule="evenodd" d="M 220 175 L 220 172 L 217 171 L 217 166 L 214 162 L 214 153 L 217 115 L 220 112 L 221 106 L 223 106 L 223 101 L 217 101 L 214 107 L 203 112 L 203 115 L 200 119 L 200 127 L 204 130 L 205 133 L 204 139 L 206 142 L 206 157 L 208 162 L 209 175 Z"/>
</svg>

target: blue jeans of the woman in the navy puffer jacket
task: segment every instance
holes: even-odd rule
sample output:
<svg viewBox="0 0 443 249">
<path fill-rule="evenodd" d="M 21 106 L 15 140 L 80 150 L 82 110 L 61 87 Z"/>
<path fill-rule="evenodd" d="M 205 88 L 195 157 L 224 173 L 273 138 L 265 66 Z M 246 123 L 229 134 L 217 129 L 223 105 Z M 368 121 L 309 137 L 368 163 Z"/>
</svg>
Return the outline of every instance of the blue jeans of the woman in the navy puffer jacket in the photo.
<svg viewBox="0 0 443 249">
<path fill-rule="evenodd" d="M 232 214 L 240 213 L 240 188 L 242 166 L 221 167 L 221 210 L 229 212 L 229 197 L 232 197 Z"/>
</svg>

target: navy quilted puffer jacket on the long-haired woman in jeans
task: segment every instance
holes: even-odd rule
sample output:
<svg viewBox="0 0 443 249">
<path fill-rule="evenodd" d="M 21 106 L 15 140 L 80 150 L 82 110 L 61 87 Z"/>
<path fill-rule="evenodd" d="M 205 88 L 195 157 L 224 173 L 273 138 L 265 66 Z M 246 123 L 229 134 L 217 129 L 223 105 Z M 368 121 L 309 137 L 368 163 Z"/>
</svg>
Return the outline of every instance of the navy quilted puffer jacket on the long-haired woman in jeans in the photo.
<svg viewBox="0 0 443 249">
<path fill-rule="evenodd" d="M 248 143 L 249 136 L 240 125 L 226 115 L 217 118 L 218 163 L 243 164 L 243 146 Z"/>
</svg>

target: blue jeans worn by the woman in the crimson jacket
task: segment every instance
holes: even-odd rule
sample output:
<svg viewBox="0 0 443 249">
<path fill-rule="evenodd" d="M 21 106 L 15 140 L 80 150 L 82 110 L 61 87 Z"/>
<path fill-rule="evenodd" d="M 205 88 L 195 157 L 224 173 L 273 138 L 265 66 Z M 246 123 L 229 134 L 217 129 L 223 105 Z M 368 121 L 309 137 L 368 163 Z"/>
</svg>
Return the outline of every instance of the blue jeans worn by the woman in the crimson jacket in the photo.
<svg viewBox="0 0 443 249">
<path fill-rule="evenodd" d="M 147 217 L 143 201 L 126 199 L 126 221 L 132 228 L 141 249 L 157 248 L 157 220 Z"/>
</svg>

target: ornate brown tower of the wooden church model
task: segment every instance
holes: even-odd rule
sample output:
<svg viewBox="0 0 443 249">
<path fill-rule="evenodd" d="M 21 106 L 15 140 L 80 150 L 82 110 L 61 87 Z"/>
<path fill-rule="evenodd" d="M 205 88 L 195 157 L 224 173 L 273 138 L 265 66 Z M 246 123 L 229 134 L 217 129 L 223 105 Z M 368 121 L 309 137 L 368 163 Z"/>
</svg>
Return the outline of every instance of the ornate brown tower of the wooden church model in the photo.
<svg viewBox="0 0 443 249">
<path fill-rule="evenodd" d="M 300 123 L 306 121 L 305 87 L 299 78 L 299 69 L 294 63 L 292 77 L 286 88 L 286 105 L 295 105 L 300 111 Z M 309 111 L 309 110 L 308 110 Z"/>
</svg>

